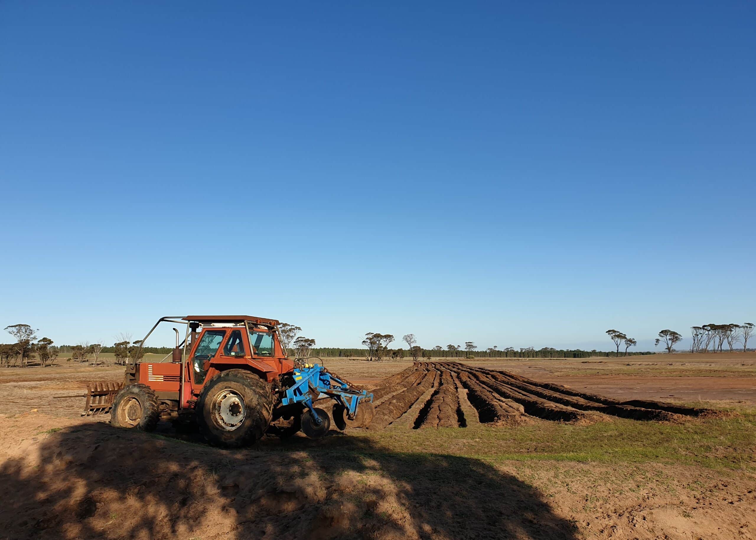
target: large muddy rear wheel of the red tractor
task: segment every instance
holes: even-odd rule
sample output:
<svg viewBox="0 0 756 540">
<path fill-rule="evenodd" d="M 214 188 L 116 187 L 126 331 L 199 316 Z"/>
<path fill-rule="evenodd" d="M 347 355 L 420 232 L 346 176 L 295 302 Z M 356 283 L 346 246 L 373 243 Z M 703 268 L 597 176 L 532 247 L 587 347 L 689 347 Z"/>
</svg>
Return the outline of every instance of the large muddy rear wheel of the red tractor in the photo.
<svg viewBox="0 0 756 540">
<path fill-rule="evenodd" d="M 229 369 L 209 381 L 197 400 L 197 424 L 215 446 L 238 448 L 254 443 L 271 424 L 271 387 L 254 373 Z"/>
</svg>

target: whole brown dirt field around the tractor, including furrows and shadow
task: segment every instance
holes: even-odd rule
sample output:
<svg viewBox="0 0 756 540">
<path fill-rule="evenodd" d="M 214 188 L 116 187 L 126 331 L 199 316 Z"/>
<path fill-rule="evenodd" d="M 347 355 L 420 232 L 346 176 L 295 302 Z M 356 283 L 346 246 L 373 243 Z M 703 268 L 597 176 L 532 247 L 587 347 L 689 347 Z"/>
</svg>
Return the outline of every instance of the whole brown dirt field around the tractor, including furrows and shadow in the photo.
<svg viewBox="0 0 756 540">
<path fill-rule="evenodd" d="M 0 538 L 756 536 L 754 353 L 324 362 L 370 427 L 242 451 L 53 399 L 121 367 L 3 369 Z"/>
</svg>

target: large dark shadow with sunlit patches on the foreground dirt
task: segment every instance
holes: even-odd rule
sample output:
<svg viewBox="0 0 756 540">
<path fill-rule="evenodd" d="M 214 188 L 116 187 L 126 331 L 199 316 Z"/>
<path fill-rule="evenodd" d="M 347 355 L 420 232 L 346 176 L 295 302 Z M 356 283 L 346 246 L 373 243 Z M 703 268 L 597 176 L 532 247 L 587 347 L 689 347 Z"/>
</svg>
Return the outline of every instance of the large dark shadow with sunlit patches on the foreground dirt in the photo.
<svg viewBox="0 0 756 540">
<path fill-rule="evenodd" d="M 577 532 L 538 489 L 483 461 L 387 452 L 368 437 L 232 451 L 80 424 L 6 460 L 0 482 L 0 538 L 569 539 Z"/>
</svg>

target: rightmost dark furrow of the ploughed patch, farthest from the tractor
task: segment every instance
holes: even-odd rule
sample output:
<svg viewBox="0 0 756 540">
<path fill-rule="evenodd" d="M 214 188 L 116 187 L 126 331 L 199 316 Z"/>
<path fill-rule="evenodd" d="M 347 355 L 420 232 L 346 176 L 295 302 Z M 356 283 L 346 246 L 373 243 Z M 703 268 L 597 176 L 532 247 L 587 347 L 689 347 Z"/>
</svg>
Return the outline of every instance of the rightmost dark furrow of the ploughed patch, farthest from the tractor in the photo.
<svg viewBox="0 0 756 540">
<path fill-rule="evenodd" d="M 652 415 L 649 415 L 649 418 L 642 418 L 643 414 L 641 414 L 639 417 L 636 417 L 632 415 L 632 412 L 628 409 L 624 409 L 626 407 L 630 407 L 632 409 L 640 409 L 640 410 L 656 410 L 656 411 L 665 411 L 668 413 L 672 413 L 674 415 L 686 415 L 686 416 L 716 416 L 719 415 L 719 412 L 714 411 L 713 409 L 704 409 L 699 407 L 685 407 L 680 405 L 675 405 L 674 403 L 666 403 L 663 401 L 652 401 L 652 400 L 629 400 L 629 401 L 620 401 L 620 400 L 613 400 L 611 397 L 606 396 L 599 396 L 595 393 L 587 393 L 587 392 L 580 392 L 578 390 L 572 390 L 572 388 L 568 388 L 565 386 L 562 386 L 561 384 L 551 384 L 547 382 L 539 382 L 534 381 L 533 379 L 529 379 L 526 377 L 522 377 L 521 375 L 515 375 L 514 373 L 510 372 L 500 372 L 496 370 L 485 370 L 492 373 L 497 373 L 499 375 L 503 375 L 504 377 L 510 379 L 510 381 L 516 381 L 520 384 L 528 384 L 531 387 L 538 387 L 543 390 L 548 390 L 551 392 L 555 392 L 556 395 L 562 394 L 567 396 L 572 396 L 576 398 L 580 398 L 581 400 L 585 400 L 587 402 L 593 402 L 593 403 L 600 403 L 605 406 L 618 406 L 622 409 L 618 409 L 619 411 L 622 411 L 621 414 L 617 414 L 615 412 L 609 412 L 609 414 L 616 414 L 618 416 L 625 416 L 625 418 L 636 418 L 638 420 L 674 420 L 674 417 L 668 417 L 665 418 L 663 415 L 658 418 L 653 418 Z M 510 384 L 514 384 L 514 382 L 510 382 Z"/>
</svg>

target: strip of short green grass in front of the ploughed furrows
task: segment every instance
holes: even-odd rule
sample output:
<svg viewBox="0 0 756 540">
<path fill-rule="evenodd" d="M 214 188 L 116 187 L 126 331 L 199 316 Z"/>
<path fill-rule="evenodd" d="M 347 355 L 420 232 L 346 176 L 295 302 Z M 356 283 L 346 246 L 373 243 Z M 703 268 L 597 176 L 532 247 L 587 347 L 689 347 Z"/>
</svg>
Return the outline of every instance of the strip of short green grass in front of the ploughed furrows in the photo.
<svg viewBox="0 0 756 540">
<path fill-rule="evenodd" d="M 350 440 L 353 440 L 350 442 Z M 326 442 L 326 441 L 324 441 Z M 539 422 L 525 427 L 472 426 L 423 430 L 352 430 L 327 440 L 330 451 L 458 455 L 482 461 L 665 463 L 756 471 L 756 413 L 683 424 L 616 418 L 588 426 Z M 291 450 L 285 445 L 281 450 Z M 268 449 L 273 449 L 268 447 Z M 422 449 L 418 452 L 418 449 Z"/>
</svg>

